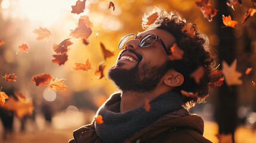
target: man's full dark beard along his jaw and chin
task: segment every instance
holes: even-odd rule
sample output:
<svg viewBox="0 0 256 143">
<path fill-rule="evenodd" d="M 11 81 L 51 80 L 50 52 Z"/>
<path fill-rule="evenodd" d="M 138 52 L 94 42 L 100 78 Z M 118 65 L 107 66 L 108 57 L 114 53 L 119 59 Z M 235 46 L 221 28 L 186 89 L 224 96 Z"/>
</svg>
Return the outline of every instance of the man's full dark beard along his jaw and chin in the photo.
<svg viewBox="0 0 256 143">
<path fill-rule="evenodd" d="M 150 63 L 141 63 L 141 66 L 139 63 L 132 69 L 121 69 L 115 65 L 109 69 L 108 77 L 122 91 L 153 91 L 169 70 L 168 64 L 166 62 L 162 66 L 150 67 Z"/>
</svg>

